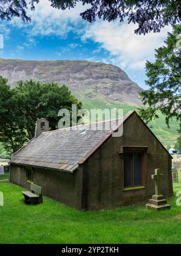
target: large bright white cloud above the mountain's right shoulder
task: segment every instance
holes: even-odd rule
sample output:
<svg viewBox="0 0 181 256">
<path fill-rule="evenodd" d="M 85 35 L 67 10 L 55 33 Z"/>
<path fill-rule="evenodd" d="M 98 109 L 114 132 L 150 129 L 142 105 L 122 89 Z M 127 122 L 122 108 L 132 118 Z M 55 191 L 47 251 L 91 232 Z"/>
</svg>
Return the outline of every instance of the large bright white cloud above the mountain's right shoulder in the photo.
<svg viewBox="0 0 181 256">
<path fill-rule="evenodd" d="M 154 49 L 164 44 L 170 27 L 163 28 L 160 33 L 136 35 L 135 24 L 97 21 L 87 26 L 82 40 L 91 39 L 100 47 L 109 51 L 110 62 L 121 68 L 142 69 L 145 61 L 154 59 Z"/>
</svg>

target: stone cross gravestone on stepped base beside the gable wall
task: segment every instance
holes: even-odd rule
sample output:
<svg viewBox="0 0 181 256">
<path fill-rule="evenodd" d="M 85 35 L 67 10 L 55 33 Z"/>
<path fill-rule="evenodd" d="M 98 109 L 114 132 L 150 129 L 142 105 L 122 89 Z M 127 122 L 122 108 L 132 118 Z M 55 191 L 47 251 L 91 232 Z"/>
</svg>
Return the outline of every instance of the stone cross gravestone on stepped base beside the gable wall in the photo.
<svg viewBox="0 0 181 256">
<path fill-rule="evenodd" d="M 163 174 L 160 174 L 159 169 L 154 169 L 154 174 L 151 175 L 151 179 L 154 180 L 155 194 L 152 195 L 152 199 L 147 203 L 147 209 L 164 210 L 171 208 L 171 206 L 168 205 L 167 200 L 164 199 L 164 195 L 160 194 L 160 177 L 162 175 Z"/>
</svg>

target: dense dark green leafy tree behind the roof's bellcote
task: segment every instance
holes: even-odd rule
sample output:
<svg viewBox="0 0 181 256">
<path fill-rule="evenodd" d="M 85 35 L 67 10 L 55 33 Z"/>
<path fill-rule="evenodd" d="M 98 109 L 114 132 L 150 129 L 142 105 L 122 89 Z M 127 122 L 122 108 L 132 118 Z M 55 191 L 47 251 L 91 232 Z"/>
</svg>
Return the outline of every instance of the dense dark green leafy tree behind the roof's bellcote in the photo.
<svg viewBox="0 0 181 256">
<path fill-rule="evenodd" d="M 30 80 L 20 81 L 17 87 L 10 89 L 7 79 L 0 77 L 0 142 L 8 151 L 17 151 L 34 137 L 37 119 L 45 117 L 50 130 L 55 130 L 59 110 L 71 111 L 73 103 L 77 104 L 77 110 L 81 109 L 81 102 L 65 85 L 59 87 Z"/>
</svg>

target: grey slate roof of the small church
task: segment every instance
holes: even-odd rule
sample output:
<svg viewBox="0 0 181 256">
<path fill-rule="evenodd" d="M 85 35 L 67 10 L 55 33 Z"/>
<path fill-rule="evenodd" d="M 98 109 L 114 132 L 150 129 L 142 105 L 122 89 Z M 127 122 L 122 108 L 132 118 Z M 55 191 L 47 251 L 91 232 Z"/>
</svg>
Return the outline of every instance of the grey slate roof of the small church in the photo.
<svg viewBox="0 0 181 256">
<path fill-rule="evenodd" d="M 14 153 L 10 163 L 73 172 L 118 129 L 120 123 L 119 119 L 112 122 L 111 127 L 110 121 L 106 121 L 97 123 L 94 130 L 90 130 L 89 125 L 80 125 L 78 130 L 63 128 L 42 133 Z M 103 130 L 99 130 L 102 125 Z"/>
</svg>

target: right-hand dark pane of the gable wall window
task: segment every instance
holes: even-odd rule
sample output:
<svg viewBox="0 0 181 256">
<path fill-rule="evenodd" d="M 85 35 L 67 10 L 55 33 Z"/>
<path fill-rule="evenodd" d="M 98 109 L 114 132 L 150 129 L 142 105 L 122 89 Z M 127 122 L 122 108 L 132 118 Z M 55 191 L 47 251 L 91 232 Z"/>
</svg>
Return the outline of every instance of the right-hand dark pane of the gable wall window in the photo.
<svg viewBox="0 0 181 256">
<path fill-rule="evenodd" d="M 134 186 L 142 185 L 142 153 L 134 154 Z"/>
</svg>

